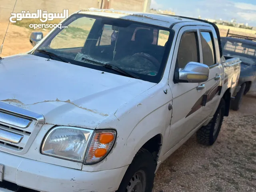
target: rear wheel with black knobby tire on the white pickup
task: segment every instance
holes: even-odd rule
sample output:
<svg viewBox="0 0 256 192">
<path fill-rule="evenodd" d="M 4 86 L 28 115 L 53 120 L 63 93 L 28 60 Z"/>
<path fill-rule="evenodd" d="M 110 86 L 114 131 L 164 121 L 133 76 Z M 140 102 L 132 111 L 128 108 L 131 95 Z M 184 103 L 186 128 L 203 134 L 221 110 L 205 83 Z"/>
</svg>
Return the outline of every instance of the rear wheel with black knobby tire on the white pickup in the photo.
<svg viewBox="0 0 256 192">
<path fill-rule="evenodd" d="M 197 141 L 204 145 L 213 145 L 220 133 L 220 128 L 225 114 L 225 100 L 222 98 L 220 104 L 208 125 L 201 127 L 196 132 Z"/>
</svg>

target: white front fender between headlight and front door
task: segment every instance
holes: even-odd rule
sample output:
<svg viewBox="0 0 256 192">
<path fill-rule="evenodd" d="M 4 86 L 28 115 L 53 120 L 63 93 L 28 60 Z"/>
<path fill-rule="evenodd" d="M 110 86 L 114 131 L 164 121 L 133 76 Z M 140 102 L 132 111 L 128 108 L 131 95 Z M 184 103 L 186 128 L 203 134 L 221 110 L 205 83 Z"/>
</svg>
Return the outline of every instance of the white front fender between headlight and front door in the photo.
<svg viewBox="0 0 256 192">
<path fill-rule="evenodd" d="M 98 125 L 97 129 L 116 129 L 116 143 L 104 160 L 84 165 L 83 170 L 100 171 L 127 166 L 152 137 L 161 134 L 164 141 L 169 136 L 172 110 L 168 110 L 168 104 L 172 102 L 172 94 L 170 90 L 168 94 L 164 93 L 163 90 L 168 88 L 168 84 L 165 85 L 157 84 L 150 88 Z"/>
</svg>

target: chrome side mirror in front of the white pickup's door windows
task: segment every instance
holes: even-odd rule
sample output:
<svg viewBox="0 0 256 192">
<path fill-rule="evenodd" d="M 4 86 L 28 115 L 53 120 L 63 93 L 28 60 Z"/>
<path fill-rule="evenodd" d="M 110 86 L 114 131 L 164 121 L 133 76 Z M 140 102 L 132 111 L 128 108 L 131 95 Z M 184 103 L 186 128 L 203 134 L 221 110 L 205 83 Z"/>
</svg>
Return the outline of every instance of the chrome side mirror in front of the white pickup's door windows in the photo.
<svg viewBox="0 0 256 192">
<path fill-rule="evenodd" d="M 202 83 L 209 78 L 209 67 L 197 62 L 189 62 L 181 69 L 177 69 L 175 74 L 176 83 Z"/>
</svg>

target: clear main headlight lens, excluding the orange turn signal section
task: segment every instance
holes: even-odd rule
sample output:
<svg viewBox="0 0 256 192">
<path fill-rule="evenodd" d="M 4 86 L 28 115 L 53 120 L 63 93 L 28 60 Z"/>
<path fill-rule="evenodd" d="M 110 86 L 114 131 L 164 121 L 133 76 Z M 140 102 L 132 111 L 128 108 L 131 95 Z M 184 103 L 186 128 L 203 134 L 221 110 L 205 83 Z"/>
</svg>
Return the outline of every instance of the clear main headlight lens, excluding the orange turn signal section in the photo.
<svg viewBox="0 0 256 192">
<path fill-rule="evenodd" d="M 44 139 L 42 154 L 82 162 L 92 130 L 74 127 L 53 128 Z"/>
</svg>

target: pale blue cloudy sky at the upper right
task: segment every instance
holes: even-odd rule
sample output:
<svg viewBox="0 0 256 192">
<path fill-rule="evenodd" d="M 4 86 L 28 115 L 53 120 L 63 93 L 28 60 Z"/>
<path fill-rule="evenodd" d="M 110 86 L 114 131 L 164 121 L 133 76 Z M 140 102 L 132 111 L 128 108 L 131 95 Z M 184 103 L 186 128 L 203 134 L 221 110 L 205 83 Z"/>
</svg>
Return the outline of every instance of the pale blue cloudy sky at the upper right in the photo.
<svg viewBox="0 0 256 192">
<path fill-rule="evenodd" d="M 232 18 L 256 26 L 256 0 L 151 0 L 151 8 L 172 10 L 176 15 L 202 19 Z"/>
</svg>

